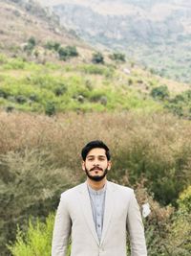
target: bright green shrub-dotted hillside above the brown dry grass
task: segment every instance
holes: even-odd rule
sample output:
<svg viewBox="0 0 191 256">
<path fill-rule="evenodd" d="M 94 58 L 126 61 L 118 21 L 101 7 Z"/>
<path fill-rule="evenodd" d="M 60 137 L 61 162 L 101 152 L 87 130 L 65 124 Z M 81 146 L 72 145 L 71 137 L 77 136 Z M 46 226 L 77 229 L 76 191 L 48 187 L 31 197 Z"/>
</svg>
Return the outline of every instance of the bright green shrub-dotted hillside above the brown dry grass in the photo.
<svg viewBox="0 0 191 256">
<path fill-rule="evenodd" d="M 128 63 L 110 59 L 97 64 L 77 58 L 40 64 L 1 55 L 1 108 L 48 115 L 69 110 L 168 109 L 190 117 L 191 93 L 186 84 L 164 81 Z"/>
</svg>

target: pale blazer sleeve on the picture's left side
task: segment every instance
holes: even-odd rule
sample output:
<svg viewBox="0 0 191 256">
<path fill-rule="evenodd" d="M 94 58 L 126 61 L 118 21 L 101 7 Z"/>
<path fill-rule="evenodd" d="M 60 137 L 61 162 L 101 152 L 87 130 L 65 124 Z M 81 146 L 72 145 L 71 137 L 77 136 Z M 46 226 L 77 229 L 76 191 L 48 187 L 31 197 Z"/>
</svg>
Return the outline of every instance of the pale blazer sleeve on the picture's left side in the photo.
<svg viewBox="0 0 191 256">
<path fill-rule="evenodd" d="M 69 237 L 71 235 L 71 223 L 67 201 L 63 194 L 55 215 L 52 256 L 66 256 Z"/>
</svg>

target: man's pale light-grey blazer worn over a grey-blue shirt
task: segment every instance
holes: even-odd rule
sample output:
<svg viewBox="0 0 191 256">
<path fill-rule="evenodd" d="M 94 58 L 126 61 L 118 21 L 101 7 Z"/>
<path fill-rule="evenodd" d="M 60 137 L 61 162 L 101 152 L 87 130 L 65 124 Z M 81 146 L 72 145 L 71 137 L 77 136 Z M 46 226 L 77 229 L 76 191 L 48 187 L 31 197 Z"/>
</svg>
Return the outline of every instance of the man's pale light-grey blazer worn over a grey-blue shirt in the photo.
<svg viewBox="0 0 191 256">
<path fill-rule="evenodd" d="M 61 195 L 53 229 L 52 256 L 125 256 L 128 231 L 132 256 L 146 256 L 144 230 L 134 191 L 107 181 L 101 240 L 96 235 L 87 183 Z"/>
</svg>

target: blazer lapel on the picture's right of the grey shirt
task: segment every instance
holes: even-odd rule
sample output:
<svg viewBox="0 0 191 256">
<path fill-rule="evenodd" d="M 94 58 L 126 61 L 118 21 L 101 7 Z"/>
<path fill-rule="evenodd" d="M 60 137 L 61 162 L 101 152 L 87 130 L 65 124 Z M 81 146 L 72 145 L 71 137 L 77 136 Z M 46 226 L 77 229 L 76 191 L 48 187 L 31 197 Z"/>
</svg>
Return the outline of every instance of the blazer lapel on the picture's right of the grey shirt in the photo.
<svg viewBox="0 0 191 256">
<path fill-rule="evenodd" d="M 105 197 L 105 210 L 104 210 L 104 216 L 103 216 L 103 229 L 102 229 L 100 244 L 103 243 L 103 240 L 106 236 L 106 232 L 109 227 L 110 221 L 112 219 L 113 212 L 114 212 L 113 188 L 112 188 L 112 185 L 110 184 L 110 182 L 107 181 L 106 197 Z"/>
</svg>

